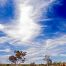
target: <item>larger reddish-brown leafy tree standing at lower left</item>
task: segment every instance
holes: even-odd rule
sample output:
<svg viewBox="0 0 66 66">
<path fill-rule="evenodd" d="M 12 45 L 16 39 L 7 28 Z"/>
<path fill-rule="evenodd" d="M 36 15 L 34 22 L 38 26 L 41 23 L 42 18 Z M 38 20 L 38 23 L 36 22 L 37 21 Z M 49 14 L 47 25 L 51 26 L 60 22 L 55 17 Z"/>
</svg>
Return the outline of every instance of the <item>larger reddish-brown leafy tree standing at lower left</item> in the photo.
<svg viewBox="0 0 66 66">
<path fill-rule="evenodd" d="M 23 52 L 23 51 L 15 51 L 15 56 L 9 56 L 9 60 L 12 62 L 12 63 L 15 63 L 17 62 L 18 64 L 18 61 L 24 63 L 25 62 L 25 56 L 26 56 L 26 52 Z"/>
</svg>

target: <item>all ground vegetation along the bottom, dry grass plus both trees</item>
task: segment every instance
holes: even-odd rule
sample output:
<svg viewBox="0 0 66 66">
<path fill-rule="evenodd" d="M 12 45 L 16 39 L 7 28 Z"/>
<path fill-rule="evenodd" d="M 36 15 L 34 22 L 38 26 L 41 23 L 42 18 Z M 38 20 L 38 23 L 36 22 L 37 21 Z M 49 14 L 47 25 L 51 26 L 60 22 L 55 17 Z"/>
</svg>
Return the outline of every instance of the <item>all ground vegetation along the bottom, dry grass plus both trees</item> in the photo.
<svg viewBox="0 0 66 66">
<path fill-rule="evenodd" d="M 66 63 L 62 62 L 52 62 L 50 56 L 45 55 L 43 61 L 46 61 L 46 64 L 35 64 L 35 62 L 30 64 L 22 64 L 25 62 L 26 52 L 15 51 L 14 55 L 9 56 L 9 61 L 11 64 L 0 64 L 0 66 L 66 66 Z M 20 61 L 20 63 L 18 63 Z"/>
</svg>

